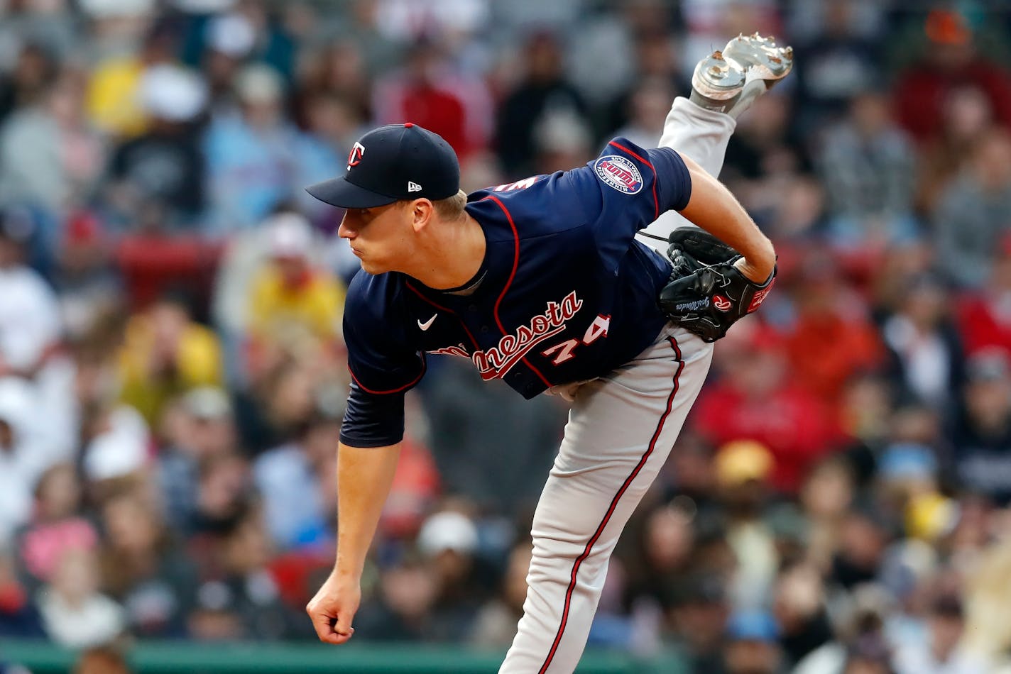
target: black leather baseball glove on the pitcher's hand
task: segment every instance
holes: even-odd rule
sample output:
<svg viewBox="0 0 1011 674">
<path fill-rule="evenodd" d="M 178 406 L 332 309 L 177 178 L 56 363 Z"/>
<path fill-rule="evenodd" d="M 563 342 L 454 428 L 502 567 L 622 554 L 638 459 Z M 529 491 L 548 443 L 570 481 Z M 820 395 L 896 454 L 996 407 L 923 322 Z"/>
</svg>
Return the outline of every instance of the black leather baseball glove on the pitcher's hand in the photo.
<svg viewBox="0 0 1011 674">
<path fill-rule="evenodd" d="M 674 229 L 668 243 L 673 269 L 660 291 L 660 308 L 704 342 L 724 336 L 731 325 L 758 308 L 772 287 L 774 268 L 764 283 L 751 281 L 734 267 L 741 255 L 704 229 Z"/>
</svg>

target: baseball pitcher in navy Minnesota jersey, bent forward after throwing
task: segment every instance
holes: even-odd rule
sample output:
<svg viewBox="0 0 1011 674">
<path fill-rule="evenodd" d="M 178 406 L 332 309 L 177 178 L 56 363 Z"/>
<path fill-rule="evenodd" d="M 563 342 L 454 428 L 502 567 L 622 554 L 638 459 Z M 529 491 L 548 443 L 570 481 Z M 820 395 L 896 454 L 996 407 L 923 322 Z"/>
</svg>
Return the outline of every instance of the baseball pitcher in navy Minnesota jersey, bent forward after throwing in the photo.
<svg viewBox="0 0 1011 674">
<path fill-rule="evenodd" d="M 615 138 L 568 172 L 466 195 L 453 150 L 405 123 L 366 133 L 342 176 L 307 188 L 347 209 L 339 233 L 363 270 L 344 317 L 354 382 L 337 561 L 306 607 L 321 641 L 354 633 L 404 392 L 428 354 L 448 354 L 525 398 L 571 401 L 500 672 L 575 668 L 612 551 L 702 388 L 712 343 L 774 277 L 771 244 L 713 176 L 737 115 L 791 67 L 789 47 L 737 37 L 700 62 L 659 149 Z"/>
</svg>

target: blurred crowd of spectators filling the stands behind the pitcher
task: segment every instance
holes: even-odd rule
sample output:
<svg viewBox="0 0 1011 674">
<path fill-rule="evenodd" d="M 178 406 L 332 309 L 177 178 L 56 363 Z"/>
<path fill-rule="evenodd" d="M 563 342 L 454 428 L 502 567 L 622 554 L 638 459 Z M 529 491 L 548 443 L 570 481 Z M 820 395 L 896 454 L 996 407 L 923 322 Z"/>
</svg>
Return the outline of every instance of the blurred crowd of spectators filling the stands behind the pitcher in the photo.
<svg viewBox="0 0 1011 674">
<path fill-rule="evenodd" d="M 776 289 L 590 645 L 1011 671 L 1011 11 L 982 1 L 0 0 L 0 637 L 310 639 L 357 267 L 302 188 L 406 120 L 468 190 L 653 147 L 756 30 L 796 68 L 721 179 Z M 408 395 L 356 642 L 511 642 L 565 409 L 497 384 L 434 358 Z"/>
</svg>

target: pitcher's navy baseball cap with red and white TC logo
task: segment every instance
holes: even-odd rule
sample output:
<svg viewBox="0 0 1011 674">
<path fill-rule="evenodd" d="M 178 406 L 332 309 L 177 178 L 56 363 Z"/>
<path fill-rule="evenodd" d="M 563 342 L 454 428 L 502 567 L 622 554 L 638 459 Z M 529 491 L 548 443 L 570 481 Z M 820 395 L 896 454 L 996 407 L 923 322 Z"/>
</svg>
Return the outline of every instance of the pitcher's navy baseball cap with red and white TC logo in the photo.
<svg viewBox="0 0 1011 674">
<path fill-rule="evenodd" d="M 460 163 L 438 133 L 410 122 L 390 124 L 355 142 L 343 176 L 305 191 L 341 208 L 373 208 L 401 199 L 437 201 L 460 191 Z"/>
</svg>

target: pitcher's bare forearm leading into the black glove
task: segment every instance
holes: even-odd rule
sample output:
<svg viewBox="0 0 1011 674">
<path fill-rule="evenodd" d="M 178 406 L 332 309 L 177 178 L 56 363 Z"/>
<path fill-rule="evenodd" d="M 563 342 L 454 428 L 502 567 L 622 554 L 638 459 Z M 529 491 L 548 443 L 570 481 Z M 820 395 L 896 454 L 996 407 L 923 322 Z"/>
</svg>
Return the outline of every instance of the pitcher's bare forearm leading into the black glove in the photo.
<svg viewBox="0 0 1011 674">
<path fill-rule="evenodd" d="M 772 243 L 726 186 L 692 159 L 681 159 L 692 175 L 692 198 L 680 214 L 744 256 L 745 276 L 764 281 L 775 265 Z"/>
</svg>

